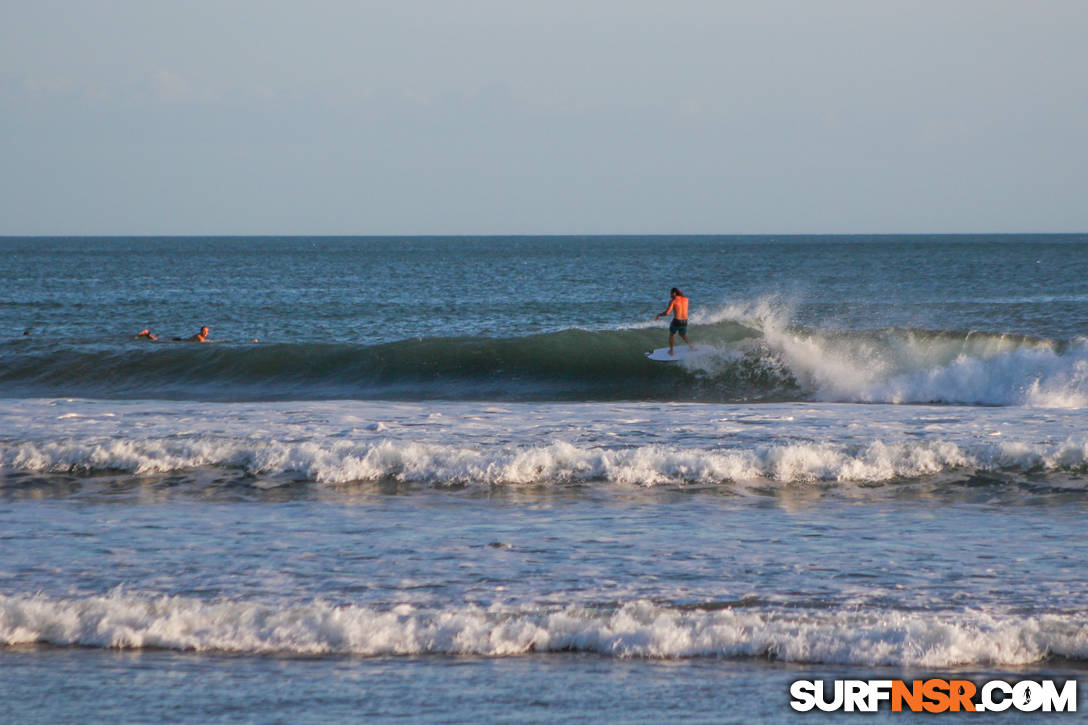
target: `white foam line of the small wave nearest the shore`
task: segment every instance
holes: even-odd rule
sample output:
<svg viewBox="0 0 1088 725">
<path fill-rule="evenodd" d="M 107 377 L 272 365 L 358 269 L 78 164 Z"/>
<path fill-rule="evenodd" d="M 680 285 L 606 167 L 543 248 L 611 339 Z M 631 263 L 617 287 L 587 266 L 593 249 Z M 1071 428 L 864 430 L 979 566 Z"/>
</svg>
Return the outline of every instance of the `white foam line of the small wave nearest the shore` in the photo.
<svg viewBox="0 0 1088 725">
<path fill-rule="evenodd" d="M 514 656 L 581 651 L 618 658 L 768 658 L 944 667 L 1088 658 L 1074 615 L 772 607 L 677 610 L 460 605 L 426 609 L 201 601 L 114 592 L 0 595 L 0 643 L 245 653 Z"/>
</svg>

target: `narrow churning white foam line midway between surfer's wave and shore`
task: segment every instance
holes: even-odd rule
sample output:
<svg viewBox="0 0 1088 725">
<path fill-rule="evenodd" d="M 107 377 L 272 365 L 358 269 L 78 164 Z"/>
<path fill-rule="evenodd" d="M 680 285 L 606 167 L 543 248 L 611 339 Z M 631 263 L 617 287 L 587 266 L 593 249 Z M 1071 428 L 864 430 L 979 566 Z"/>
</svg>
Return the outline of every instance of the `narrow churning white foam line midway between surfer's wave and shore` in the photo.
<svg viewBox="0 0 1088 725">
<path fill-rule="evenodd" d="M 415 441 L 252 441 L 207 439 L 50 441 L 0 446 L 0 470 L 120 471 L 152 475 L 212 466 L 252 476 L 293 475 L 346 483 L 396 479 L 436 484 L 602 480 L 654 486 L 733 481 L 880 482 L 953 470 L 1072 470 L 1088 466 L 1088 439 L 1061 443 L 873 441 L 862 446 L 789 443 L 751 448 L 664 444 L 619 448 L 567 442 L 444 445 Z"/>
</svg>

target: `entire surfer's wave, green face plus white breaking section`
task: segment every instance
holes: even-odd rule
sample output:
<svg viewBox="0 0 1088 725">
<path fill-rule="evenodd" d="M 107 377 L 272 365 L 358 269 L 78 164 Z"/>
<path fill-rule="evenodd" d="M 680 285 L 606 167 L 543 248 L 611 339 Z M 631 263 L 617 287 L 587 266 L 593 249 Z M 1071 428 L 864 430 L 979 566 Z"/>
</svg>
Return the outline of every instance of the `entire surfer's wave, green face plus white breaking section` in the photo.
<svg viewBox="0 0 1088 725">
<path fill-rule="evenodd" d="M 656 328 L 378 345 L 9 343 L 0 347 L 0 394 L 1060 407 L 1088 396 L 1083 341 L 898 328 L 758 330 L 731 320 L 692 325 L 690 335 L 698 355 L 666 364 L 644 356 L 667 340 Z"/>
</svg>

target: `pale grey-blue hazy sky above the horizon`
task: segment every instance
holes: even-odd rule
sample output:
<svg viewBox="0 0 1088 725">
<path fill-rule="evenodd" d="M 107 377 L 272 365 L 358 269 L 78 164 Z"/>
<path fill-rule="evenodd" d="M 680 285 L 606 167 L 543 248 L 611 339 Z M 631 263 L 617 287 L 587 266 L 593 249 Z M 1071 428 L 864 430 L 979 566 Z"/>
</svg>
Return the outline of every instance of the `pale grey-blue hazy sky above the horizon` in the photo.
<svg viewBox="0 0 1088 725">
<path fill-rule="evenodd" d="M 1085 0 L 0 0 L 0 235 L 1088 232 Z"/>
</svg>

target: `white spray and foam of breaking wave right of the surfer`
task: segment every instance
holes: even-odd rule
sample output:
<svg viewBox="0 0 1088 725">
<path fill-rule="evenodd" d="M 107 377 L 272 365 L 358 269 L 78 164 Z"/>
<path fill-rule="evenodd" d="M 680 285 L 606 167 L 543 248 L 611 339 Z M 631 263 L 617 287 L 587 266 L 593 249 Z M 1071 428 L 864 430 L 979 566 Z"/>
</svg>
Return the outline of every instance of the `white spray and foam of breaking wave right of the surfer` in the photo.
<svg viewBox="0 0 1088 725">
<path fill-rule="evenodd" d="M 759 330 L 765 364 L 781 366 L 818 401 L 1088 407 L 1085 340 L 1059 346 L 981 333 L 801 330 L 790 324 L 790 307 L 776 298 L 706 310 L 698 320 L 729 320 Z M 722 348 L 719 356 L 702 356 L 688 367 L 713 376 L 734 365 L 751 346 Z"/>
</svg>

